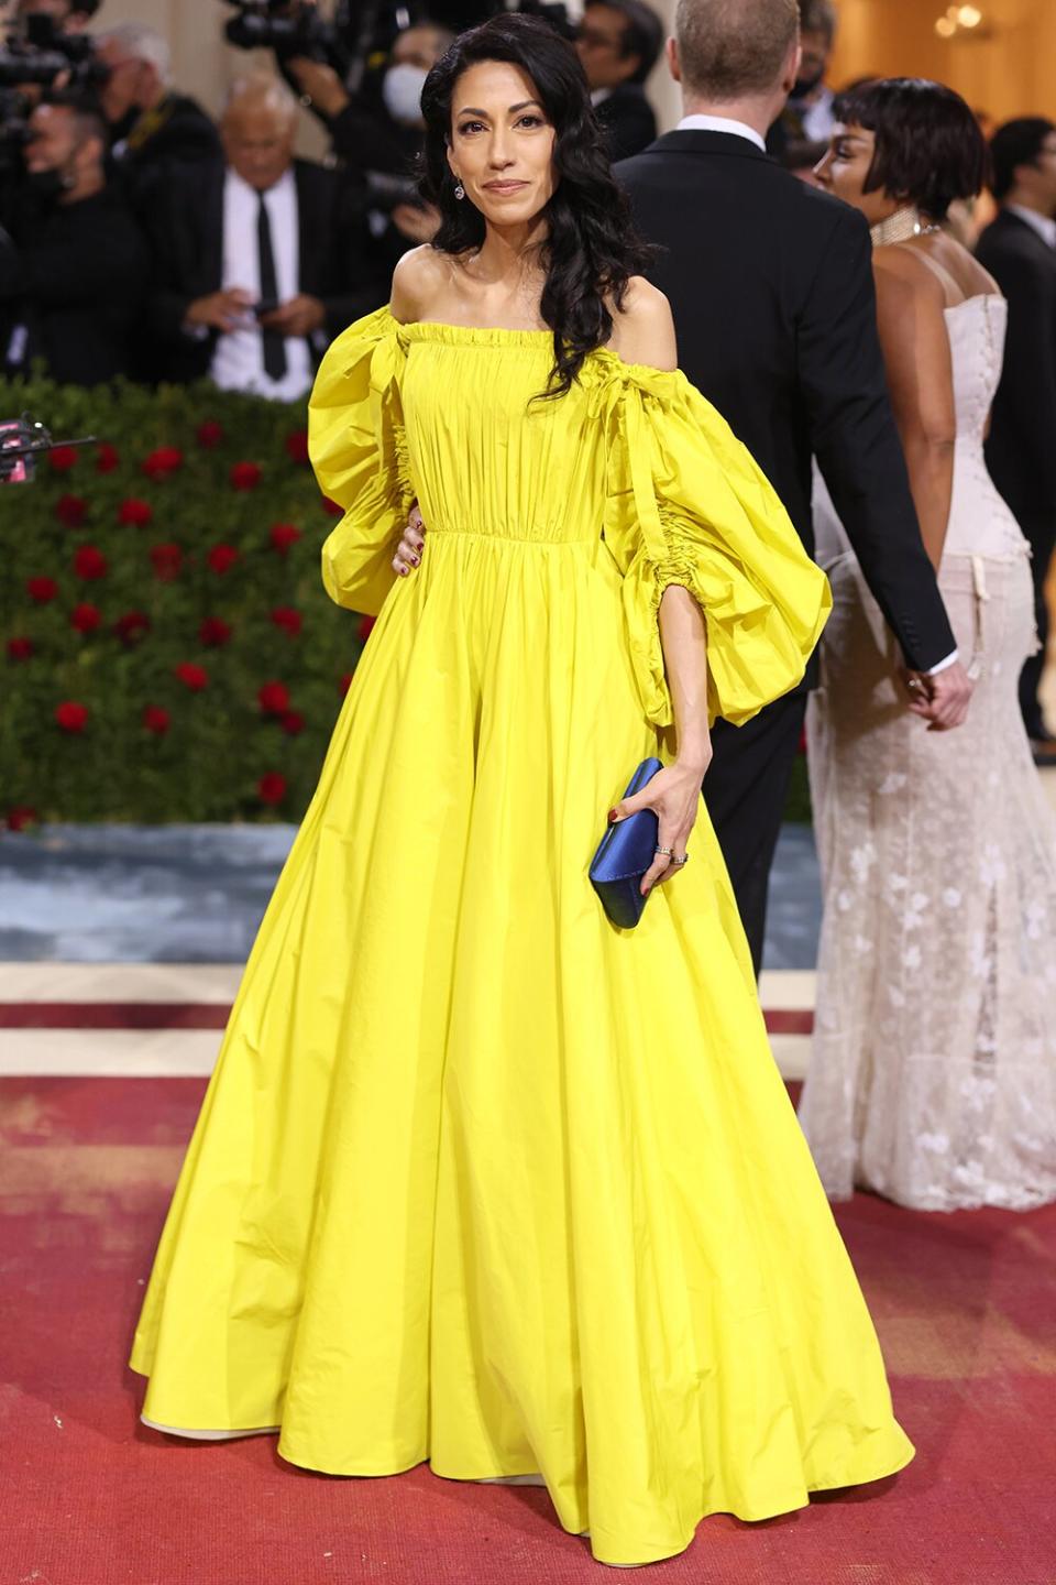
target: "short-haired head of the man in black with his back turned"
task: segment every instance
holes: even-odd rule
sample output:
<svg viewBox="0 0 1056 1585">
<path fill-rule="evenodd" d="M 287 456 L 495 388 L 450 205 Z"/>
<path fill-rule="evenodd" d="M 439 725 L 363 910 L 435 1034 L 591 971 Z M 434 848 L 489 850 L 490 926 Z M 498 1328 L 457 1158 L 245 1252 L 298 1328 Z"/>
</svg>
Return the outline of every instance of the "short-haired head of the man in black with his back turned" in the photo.
<svg viewBox="0 0 1056 1585">
<path fill-rule="evenodd" d="M 781 94 L 798 36 L 796 0 L 678 0 L 678 76 L 716 105 Z"/>
</svg>

